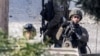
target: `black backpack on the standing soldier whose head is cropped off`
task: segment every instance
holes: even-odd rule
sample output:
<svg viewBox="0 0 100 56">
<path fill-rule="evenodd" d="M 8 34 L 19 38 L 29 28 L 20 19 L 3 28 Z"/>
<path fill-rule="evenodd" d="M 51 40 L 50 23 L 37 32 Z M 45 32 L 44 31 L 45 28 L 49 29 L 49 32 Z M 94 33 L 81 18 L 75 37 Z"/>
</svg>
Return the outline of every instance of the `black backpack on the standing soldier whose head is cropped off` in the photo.
<svg viewBox="0 0 100 56">
<path fill-rule="evenodd" d="M 54 15 L 55 15 L 55 12 L 54 12 L 54 7 L 53 7 L 52 0 L 48 1 L 48 3 L 46 3 L 44 5 L 44 9 L 42 9 L 40 15 L 46 21 L 51 21 L 53 19 Z"/>
</svg>

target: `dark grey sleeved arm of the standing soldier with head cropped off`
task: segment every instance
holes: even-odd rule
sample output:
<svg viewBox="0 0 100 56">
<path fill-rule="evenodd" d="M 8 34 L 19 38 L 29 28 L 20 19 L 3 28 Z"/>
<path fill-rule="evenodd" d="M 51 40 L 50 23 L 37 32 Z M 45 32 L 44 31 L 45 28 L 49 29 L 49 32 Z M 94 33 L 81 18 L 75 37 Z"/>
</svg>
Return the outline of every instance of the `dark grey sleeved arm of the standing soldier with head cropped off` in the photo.
<svg viewBox="0 0 100 56">
<path fill-rule="evenodd" d="M 66 0 L 67 1 L 67 0 Z M 53 6 L 54 6 L 54 12 L 55 16 L 54 18 L 48 23 L 48 29 L 53 28 L 57 24 L 60 23 L 61 18 L 64 15 L 64 4 L 61 2 L 65 2 L 65 0 L 53 0 Z"/>
</svg>

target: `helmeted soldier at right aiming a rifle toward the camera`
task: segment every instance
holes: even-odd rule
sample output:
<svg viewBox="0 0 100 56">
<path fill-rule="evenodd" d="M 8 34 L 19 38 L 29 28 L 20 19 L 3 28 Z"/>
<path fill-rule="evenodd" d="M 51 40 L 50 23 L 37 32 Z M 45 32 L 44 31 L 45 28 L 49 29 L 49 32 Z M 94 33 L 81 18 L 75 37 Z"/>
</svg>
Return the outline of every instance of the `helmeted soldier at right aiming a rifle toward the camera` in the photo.
<svg viewBox="0 0 100 56">
<path fill-rule="evenodd" d="M 73 48 L 78 47 L 81 53 L 87 53 L 86 45 L 88 42 L 87 30 L 79 25 L 82 20 L 82 12 L 80 10 L 72 10 L 69 14 L 69 22 L 65 22 L 63 27 L 69 27 L 71 31 L 71 43 Z M 67 34 L 68 35 L 68 34 Z"/>
</svg>

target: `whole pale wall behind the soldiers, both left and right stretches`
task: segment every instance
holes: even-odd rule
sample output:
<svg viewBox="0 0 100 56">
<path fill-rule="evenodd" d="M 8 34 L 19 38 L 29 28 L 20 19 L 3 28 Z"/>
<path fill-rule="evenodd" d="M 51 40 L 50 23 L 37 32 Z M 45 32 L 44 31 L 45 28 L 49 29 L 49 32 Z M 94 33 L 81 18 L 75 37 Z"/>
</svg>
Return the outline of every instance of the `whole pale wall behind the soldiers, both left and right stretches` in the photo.
<svg viewBox="0 0 100 56">
<path fill-rule="evenodd" d="M 39 36 L 39 28 L 41 26 L 41 11 L 42 0 L 10 0 L 9 5 L 9 35 L 13 37 L 21 37 L 22 29 L 26 23 L 32 23 L 37 29 L 36 39 L 41 39 Z M 89 32 L 88 45 L 92 53 L 100 53 L 100 24 L 96 24 L 93 19 L 85 15 L 81 22 Z"/>
</svg>

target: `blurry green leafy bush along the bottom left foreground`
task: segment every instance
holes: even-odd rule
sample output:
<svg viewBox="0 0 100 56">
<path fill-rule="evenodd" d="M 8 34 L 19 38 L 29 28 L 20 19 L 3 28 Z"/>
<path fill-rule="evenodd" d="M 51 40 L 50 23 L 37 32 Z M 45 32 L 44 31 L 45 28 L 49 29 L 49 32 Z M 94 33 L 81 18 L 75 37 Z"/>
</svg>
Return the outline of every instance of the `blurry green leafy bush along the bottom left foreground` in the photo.
<svg viewBox="0 0 100 56">
<path fill-rule="evenodd" d="M 0 54 L 6 56 L 40 56 L 46 47 L 42 43 L 28 43 L 27 39 L 16 39 L 0 31 Z"/>
</svg>

